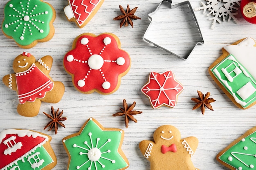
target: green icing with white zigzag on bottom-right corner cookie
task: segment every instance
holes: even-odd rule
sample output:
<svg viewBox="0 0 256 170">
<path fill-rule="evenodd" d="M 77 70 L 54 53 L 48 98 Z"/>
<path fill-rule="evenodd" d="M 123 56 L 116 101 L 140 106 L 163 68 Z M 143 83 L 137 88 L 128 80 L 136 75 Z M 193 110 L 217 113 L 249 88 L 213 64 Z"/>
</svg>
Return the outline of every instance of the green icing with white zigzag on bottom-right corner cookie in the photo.
<svg viewBox="0 0 256 170">
<path fill-rule="evenodd" d="M 256 167 L 256 132 L 244 137 L 218 157 L 237 170 L 253 170 Z"/>
</svg>

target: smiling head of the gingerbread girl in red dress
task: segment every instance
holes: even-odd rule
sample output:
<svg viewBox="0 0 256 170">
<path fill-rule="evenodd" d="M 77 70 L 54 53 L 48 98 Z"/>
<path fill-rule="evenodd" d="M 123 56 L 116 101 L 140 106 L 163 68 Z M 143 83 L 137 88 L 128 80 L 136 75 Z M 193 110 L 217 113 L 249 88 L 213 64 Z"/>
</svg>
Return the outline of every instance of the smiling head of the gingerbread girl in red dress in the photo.
<svg viewBox="0 0 256 170">
<path fill-rule="evenodd" d="M 15 73 L 26 71 L 34 62 L 36 62 L 36 59 L 33 55 L 22 53 L 13 60 L 13 71 Z"/>
</svg>

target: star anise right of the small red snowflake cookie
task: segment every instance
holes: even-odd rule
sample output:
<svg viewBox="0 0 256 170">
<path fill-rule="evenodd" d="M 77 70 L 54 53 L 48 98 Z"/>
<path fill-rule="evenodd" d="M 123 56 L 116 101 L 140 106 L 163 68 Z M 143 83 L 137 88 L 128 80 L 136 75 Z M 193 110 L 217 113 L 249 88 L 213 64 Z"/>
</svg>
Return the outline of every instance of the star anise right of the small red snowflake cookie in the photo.
<svg viewBox="0 0 256 170">
<path fill-rule="evenodd" d="M 204 96 L 202 92 L 198 91 L 198 96 L 199 96 L 198 98 L 191 98 L 191 100 L 197 103 L 195 104 L 192 110 L 195 110 L 201 107 L 201 112 L 203 115 L 206 107 L 209 108 L 210 110 L 213 110 L 210 103 L 215 102 L 216 100 L 214 100 L 213 98 L 209 98 L 210 92 L 207 92 Z"/>
</svg>

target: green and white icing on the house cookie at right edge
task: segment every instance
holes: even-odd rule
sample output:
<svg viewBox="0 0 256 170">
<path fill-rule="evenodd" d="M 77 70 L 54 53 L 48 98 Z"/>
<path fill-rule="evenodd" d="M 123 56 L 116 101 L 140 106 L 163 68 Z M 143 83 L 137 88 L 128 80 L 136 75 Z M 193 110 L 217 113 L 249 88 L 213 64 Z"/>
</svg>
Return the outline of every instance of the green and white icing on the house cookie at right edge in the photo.
<svg viewBox="0 0 256 170">
<path fill-rule="evenodd" d="M 256 101 L 256 47 L 252 38 L 246 38 L 237 45 L 225 46 L 230 53 L 211 71 L 235 101 L 247 108 Z"/>
</svg>

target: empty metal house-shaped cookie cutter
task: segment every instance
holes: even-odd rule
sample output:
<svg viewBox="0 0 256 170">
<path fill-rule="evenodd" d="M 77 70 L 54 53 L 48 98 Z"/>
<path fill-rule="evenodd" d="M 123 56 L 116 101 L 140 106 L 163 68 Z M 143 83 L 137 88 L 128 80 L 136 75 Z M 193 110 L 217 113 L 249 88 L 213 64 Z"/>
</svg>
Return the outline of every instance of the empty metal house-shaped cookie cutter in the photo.
<svg viewBox="0 0 256 170">
<path fill-rule="evenodd" d="M 144 40 L 168 53 L 187 60 L 198 44 L 204 44 L 198 21 L 189 1 L 171 5 L 162 0 L 157 9 L 148 14 L 151 20 Z"/>
</svg>

